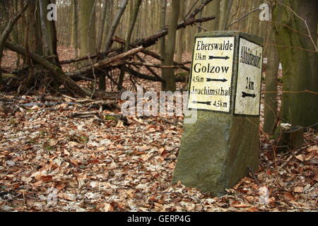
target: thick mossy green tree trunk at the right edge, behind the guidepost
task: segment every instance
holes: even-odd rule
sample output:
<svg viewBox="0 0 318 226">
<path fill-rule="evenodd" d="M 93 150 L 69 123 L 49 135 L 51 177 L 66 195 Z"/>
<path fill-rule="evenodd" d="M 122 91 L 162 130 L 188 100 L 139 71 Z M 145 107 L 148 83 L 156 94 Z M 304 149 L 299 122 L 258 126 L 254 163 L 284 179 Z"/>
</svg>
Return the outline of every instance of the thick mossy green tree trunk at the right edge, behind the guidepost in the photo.
<svg viewBox="0 0 318 226">
<path fill-rule="evenodd" d="M 316 0 L 278 0 L 273 9 L 283 66 L 282 121 L 299 126 L 318 121 L 317 4 Z"/>
</svg>

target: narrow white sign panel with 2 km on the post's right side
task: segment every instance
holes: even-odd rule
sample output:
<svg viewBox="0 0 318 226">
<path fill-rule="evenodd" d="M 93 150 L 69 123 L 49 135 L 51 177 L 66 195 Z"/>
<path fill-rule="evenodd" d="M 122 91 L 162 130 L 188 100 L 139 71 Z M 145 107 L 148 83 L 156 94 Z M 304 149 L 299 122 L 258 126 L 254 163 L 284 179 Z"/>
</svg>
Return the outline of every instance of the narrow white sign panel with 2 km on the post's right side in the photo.
<svg viewBox="0 0 318 226">
<path fill-rule="evenodd" d="M 259 115 L 263 47 L 240 37 L 235 114 Z"/>
</svg>

